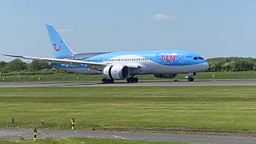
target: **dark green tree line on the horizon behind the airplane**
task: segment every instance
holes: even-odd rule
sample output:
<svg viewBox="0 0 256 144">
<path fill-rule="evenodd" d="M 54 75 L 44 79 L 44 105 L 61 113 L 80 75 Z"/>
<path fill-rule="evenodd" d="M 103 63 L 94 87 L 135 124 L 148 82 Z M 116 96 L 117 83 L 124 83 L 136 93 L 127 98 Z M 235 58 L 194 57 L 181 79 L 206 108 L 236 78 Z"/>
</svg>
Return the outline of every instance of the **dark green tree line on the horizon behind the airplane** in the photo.
<svg viewBox="0 0 256 144">
<path fill-rule="evenodd" d="M 217 71 L 256 71 L 256 58 L 209 58 L 207 62 L 210 65 L 210 72 Z M 13 72 L 61 72 L 66 73 L 64 70 L 57 70 L 50 66 L 47 62 L 34 60 L 32 62 L 22 62 L 21 59 L 16 58 L 11 62 L 0 61 L 0 73 L 13 73 Z"/>
</svg>

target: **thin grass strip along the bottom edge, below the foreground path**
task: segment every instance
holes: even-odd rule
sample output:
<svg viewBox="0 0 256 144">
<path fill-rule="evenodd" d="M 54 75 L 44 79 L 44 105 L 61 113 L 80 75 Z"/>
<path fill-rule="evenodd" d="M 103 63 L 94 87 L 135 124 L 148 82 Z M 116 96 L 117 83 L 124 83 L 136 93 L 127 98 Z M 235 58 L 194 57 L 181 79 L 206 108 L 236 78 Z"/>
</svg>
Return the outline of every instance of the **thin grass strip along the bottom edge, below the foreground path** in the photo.
<svg viewBox="0 0 256 144">
<path fill-rule="evenodd" d="M 102 144 L 188 144 L 189 142 L 154 142 L 154 141 L 139 141 L 139 140 L 120 140 L 120 139 L 109 139 L 109 138 L 54 138 L 54 139 L 38 139 L 36 142 L 31 140 L 19 139 L 17 141 L 0 141 L 2 144 L 12 144 L 12 143 L 52 143 L 52 144 L 67 144 L 67 143 L 102 143 Z"/>
</svg>

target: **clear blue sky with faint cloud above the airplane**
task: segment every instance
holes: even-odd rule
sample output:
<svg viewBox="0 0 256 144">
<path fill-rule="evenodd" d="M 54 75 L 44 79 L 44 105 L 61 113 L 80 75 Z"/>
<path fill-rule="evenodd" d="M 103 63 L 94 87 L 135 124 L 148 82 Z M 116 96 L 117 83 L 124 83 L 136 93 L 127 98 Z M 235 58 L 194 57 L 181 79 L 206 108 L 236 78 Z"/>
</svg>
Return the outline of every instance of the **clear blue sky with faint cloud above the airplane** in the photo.
<svg viewBox="0 0 256 144">
<path fill-rule="evenodd" d="M 0 54 L 53 58 L 50 23 L 77 53 L 174 49 L 256 58 L 254 0 L 2 0 L 0 22 Z"/>
</svg>

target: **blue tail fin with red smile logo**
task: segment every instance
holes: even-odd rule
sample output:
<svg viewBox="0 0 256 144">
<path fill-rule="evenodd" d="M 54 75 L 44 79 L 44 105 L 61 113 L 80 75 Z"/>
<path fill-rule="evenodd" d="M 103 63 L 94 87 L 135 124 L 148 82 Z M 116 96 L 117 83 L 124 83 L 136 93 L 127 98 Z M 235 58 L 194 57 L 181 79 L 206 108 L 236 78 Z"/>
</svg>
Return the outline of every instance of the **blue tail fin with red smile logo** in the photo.
<svg viewBox="0 0 256 144">
<path fill-rule="evenodd" d="M 63 58 L 66 56 L 71 56 L 74 52 L 66 45 L 66 42 L 58 34 L 54 26 L 46 24 L 46 28 L 50 37 L 50 42 L 54 51 L 54 58 Z"/>
</svg>

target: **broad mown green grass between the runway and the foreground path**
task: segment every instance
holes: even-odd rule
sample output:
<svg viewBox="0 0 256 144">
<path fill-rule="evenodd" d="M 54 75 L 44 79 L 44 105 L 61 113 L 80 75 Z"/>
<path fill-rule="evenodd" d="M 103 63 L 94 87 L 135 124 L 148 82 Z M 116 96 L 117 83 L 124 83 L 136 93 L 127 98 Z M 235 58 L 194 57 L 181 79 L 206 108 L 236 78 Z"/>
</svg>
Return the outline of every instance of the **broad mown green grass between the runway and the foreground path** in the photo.
<svg viewBox="0 0 256 144">
<path fill-rule="evenodd" d="M 70 118 L 74 118 L 79 130 L 93 127 L 96 130 L 256 130 L 256 89 L 255 86 L 0 88 L 0 110 L 0 127 L 70 129 Z"/>
</svg>

